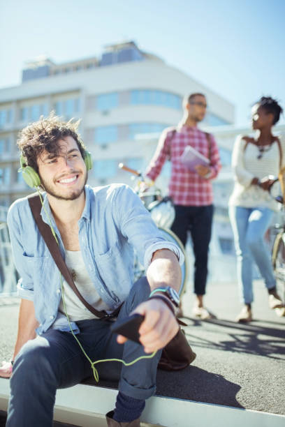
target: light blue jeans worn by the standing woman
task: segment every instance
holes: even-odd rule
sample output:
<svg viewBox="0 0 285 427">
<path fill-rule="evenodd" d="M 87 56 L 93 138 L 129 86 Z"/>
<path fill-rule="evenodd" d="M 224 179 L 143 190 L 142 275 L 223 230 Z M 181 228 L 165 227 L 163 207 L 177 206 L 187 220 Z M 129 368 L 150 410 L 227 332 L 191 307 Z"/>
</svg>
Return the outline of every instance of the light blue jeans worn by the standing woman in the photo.
<svg viewBox="0 0 285 427">
<path fill-rule="evenodd" d="M 252 292 L 252 265 L 256 262 L 268 289 L 275 287 L 276 280 L 270 261 L 264 234 L 272 220 L 273 211 L 268 208 L 229 207 L 229 216 L 238 257 L 238 285 L 242 302 L 254 301 Z"/>
</svg>

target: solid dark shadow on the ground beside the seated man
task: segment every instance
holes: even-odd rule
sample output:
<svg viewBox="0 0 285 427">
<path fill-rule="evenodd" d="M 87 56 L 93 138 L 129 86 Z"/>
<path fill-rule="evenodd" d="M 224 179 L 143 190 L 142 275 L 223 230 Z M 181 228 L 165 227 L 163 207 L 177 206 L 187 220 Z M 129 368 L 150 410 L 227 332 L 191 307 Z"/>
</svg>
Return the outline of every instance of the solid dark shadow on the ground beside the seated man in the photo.
<svg viewBox="0 0 285 427">
<path fill-rule="evenodd" d="M 156 394 L 159 396 L 194 400 L 243 408 L 236 399 L 240 385 L 226 380 L 222 375 L 189 366 L 177 372 L 158 370 Z"/>
</svg>

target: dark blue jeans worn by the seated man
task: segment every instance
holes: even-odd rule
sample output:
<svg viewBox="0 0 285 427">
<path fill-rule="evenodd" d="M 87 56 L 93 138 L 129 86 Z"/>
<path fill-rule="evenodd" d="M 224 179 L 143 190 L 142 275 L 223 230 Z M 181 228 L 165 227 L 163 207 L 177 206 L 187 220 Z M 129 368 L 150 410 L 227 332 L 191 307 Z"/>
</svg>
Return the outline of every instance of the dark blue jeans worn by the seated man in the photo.
<svg viewBox="0 0 285 427">
<path fill-rule="evenodd" d="M 118 320 L 149 297 L 149 284 L 140 278 L 132 287 L 119 312 Z M 77 322 L 80 343 L 92 361 L 119 358 L 132 361 L 145 354 L 142 345 L 127 341 L 119 345 L 110 332 L 112 322 L 94 319 Z M 127 396 L 146 399 L 155 392 L 156 369 L 161 351 L 152 359 L 122 366 L 119 390 Z M 121 364 L 117 364 L 117 370 Z M 114 364 L 113 364 L 114 365 Z M 99 368 L 100 366 L 100 368 Z M 110 374 L 110 362 L 96 365 Z M 20 350 L 10 379 L 7 427 L 52 427 L 57 389 L 78 384 L 92 375 L 92 368 L 70 332 L 48 329 L 42 336 L 29 340 Z M 112 410 L 112 408 L 110 408 Z"/>
</svg>

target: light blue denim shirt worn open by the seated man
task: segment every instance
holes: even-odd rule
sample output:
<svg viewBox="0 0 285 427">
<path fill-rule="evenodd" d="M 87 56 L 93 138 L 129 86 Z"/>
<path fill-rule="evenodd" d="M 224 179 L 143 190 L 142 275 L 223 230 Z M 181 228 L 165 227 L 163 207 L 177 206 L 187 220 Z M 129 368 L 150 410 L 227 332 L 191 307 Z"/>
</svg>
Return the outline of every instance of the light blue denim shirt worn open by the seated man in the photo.
<svg viewBox="0 0 285 427">
<path fill-rule="evenodd" d="M 52 223 L 61 255 L 64 244 L 44 193 L 43 221 Z M 133 285 L 133 248 L 145 269 L 159 249 L 173 250 L 180 264 L 181 250 L 163 239 L 140 198 L 129 186 L 112 184 L 85 186 L 85 208 L 79 226 L 79 243 L 87 272 L 101 299 L 115 310 L 126 299 Z M 21 298 L 34 301 L 36 319 L 42 334 L 50 327 L 68 331 L 66 317 L 58 312 L 61 299 L 59 269 L 41 237 L 27 197 L 14 202 L 8 211 L 8 227 L 13 259 L 21 278 L 17 289 Z M 72 322 L 75 332 L 77 325 Z"/>
</svg>

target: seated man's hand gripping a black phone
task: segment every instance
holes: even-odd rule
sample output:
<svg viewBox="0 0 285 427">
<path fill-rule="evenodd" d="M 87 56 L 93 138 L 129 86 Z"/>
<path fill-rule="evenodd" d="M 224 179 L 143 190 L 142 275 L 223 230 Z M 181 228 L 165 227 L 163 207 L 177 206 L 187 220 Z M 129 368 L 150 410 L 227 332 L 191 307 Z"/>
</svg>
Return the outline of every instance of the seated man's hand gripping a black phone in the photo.
<svg viewBox="0 0 285 427">
<path fill-rule="evenodd" d="M 146 353 L 152 353 L 165 347 L 177 334 L 179 325 L 170 308 L 160 299 L 149 299 L 140 304 L 133 313 L 145 316 L 140 325 L 139 334 Z M 126 338 L 117 337 L 119 344 L 124 344 Z"/>
</svg>

